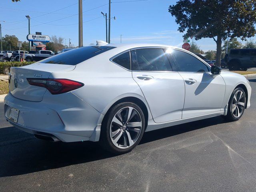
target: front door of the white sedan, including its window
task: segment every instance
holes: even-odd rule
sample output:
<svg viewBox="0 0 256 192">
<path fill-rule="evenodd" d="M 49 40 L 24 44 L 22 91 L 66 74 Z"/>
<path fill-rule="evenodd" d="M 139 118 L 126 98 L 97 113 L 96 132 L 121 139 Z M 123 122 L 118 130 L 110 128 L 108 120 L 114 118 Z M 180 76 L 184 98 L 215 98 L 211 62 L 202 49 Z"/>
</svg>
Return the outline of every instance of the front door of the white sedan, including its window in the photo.
<svg viewBox="0 0 256 192">
<path fill-rule="evenodd" d="M 169 50 L 185 83 L 185 102 L 182 119 L 219 112 L 226 84 L 220 75 L 196 56 L 182 50 Z"/>
</svg>

